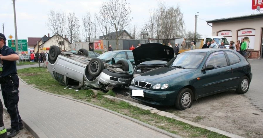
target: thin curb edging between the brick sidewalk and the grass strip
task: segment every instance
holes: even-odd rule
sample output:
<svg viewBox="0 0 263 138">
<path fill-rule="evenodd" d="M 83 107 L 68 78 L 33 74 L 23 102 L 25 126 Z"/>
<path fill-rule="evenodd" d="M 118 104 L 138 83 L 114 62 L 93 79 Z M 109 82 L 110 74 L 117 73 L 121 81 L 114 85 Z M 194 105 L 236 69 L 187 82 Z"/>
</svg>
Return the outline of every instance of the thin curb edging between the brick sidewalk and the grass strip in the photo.
<svg viewBox="0 0 263 138">
<path fill-rule="evenodd" d="M 22 79 L 20 79 L 20 80 L 22 80 Z M 160 129 L 160 128 L 157 128 L 157 127 L 155 127 L 155 126 L 152 126 L 152 125 L 143 123 L 143 122 L 141 122 L 141 121 L 139 121 L 139 120 L 136 120 L 136 119 L 131 118 L 131 117 L 129 117 L 129 116 L 125 116 L 125 115 L 120 114 L 120 113 L 117 113 L 117 112 L 115 112 L 115 111 L 111 111 L 111 110 L 106 109 L 106 108 L 104 108 L 104 107 L 100 107 L 100 106 L 97 106 L 97 105 L 94 105 L 94 104 L 91 104 L 91 103 L 88 103 L 88 102 L 84 102 L 84 101 L 81 101 L 81 100 L 77 100 L 77 99 L 65 97 L 65 96 L 62 96 L 62 95 L 56 95 L 56 94 L 53 94 L 53 93 L 49 93 L 49 92 L 46 92 L 46 91 L 37 89 L 37 88 L 35 88 L 35 87 L 33 87 L 33 86 L 30 86 L 30 87 L 33 88 L 33 89 L 35 89 L 35 90 L 38 90 L 38 91 L 40 91 L 40 92 L 44 92 L 44 93 L 46 93 L 46 94 L 49 94 L 49 95 L 54 95 L 54 96 L 57 96 L 57 97 L 62 97 L 62 98 L 69 99 L 69 100 L 72 100 L 72 101 L 76 101 L 76 102 L 80 102 L 80 103 L 83 103 L 83 104 L 87 104 L 87 105 L 89 105 L 89 106 L 93 106 L 93 107 L 96 107 L 96 108 L 98 108 L 98 109 L 102 109 L 102 110 L 104 110 L 104 111 L 113 113 L 113 114 L 115 114 L 115 115 L 117 115 L 117 116 L 126 118 L 126 119 L 131 120 L 131 121 L 133 121 L 133 122 L 135 122 L 135 123 L 138 123 L 138 124 L 140 124 L 140 125 L 143 125 L 143 126 L 145 126 L 145 127 L 148 127 L 148 128 L 150 128 L 150 129 L 152 129 L 152 130 L 155 130 L 155 131 L 157 131 L 157 132 L 160 132 L 160 133 L 162 133 L 162 134 L 165 134 L 165 135 L 167 135 L 167 136 L 169 136 L 169 137 L 182 138 L 182 137 L 180 137 L 179 135 L 176 135 L 176 134 L 167 132 L 167 131 L 162 130 L 162 129 Z M 31 128 L 32 128 L 32 127 L 31 127 Z M 28 131 L 29 131 L 29 130 L 28 130 Z M 31 132 L 30 132 L 30 133 L 31 133 Z M 33 132 L 33 133 L 35 133 L 35 132 Z M 31 134 L 32 134 L 32 133 L 31 133 Z M 32 135 L 33 135 L 33 134 L 32 134 Z M 46 135 L 45 135 L 45 136 L 46 136 Z M 46 137 L 36 137 L 36 138 L 46 138 Z"/>
</svg>

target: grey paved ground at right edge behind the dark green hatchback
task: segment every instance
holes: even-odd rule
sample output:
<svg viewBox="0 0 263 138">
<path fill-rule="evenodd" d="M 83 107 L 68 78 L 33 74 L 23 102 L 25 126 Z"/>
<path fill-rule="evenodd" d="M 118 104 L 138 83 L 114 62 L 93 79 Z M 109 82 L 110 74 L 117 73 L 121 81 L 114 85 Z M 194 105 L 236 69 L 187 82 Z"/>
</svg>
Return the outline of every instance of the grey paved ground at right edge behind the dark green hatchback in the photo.
<svg viewBox="0 0 263 138">
<path fill-rule="evenodd" d="M 263 60 L 249 59 L 253 73 L 252 81 L 244 95 L 250 102 L 263 111 Z"/>
</svg>

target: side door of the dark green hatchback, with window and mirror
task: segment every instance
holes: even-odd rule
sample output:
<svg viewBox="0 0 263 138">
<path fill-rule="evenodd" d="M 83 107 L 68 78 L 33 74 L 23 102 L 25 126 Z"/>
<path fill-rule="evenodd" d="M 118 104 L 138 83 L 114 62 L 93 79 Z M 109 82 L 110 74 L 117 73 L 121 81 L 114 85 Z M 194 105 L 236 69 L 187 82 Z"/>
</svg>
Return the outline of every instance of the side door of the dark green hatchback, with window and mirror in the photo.
<svg viewBox="0 0 263 138">
<path fill-rule="evenodd" d="M 223 51 L 211 53 L 204 68 L 208 65 L 213 65 L 215 68 L 202 71 L 200 80 L 203 90 L 201 95 L 210 95 L 228 89 L 232 79 L 232 71 L 225 53 Z"/>
</svg>

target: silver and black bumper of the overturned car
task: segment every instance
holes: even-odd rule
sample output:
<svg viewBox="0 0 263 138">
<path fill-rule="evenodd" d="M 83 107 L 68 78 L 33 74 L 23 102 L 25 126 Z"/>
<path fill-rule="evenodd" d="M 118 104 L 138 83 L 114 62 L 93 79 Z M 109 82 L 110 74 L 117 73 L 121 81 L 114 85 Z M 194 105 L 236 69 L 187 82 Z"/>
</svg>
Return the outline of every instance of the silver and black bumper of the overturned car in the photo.
<svg viewBox="0 0 263 138">
<path fill-rule="evenodd" d="M 98 78 L 98 81 L 100 83 L 103 83 L 105 85 L 112 85 L 112 86 L 123 86 L 123 85 L 129 85 L 132 79 L 132 75 L 126 75 L 126 74 L 119 74 L 110 72 L 107 69 L 104 69 L 100 73 L 100 77 Z"/>
</svg>

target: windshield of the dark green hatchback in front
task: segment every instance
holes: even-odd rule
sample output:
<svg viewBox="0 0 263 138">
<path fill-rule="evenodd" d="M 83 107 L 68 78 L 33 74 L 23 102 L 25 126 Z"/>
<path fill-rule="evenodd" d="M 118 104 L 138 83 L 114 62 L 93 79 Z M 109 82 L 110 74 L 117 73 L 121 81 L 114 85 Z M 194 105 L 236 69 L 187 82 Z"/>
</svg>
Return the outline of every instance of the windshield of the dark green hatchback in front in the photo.
<svg viewBox="0 0 263 138">
<path fill-rule="evenodd" d="M 203 61 L 206 53 L 201 52 L 184 52 L 167 63 L 168 67 L 181 66 L 188 69 L 197 69 Z"/>
</svg>

